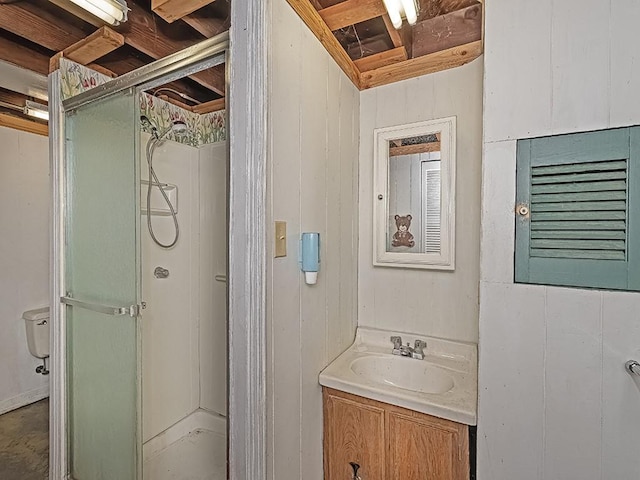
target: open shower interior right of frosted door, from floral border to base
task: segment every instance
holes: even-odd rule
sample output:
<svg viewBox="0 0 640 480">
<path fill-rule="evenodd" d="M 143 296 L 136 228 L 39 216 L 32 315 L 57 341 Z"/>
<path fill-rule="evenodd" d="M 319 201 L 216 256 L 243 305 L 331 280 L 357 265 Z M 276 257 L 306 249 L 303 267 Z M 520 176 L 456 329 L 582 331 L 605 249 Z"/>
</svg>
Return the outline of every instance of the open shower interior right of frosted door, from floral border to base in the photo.
<svg viewBox="0 0 640 480">
<path fill-rule="evenodd" d="M 226 142 L 201 144 L 201 119 L 175 105 L 140 103 L 143 477 L 222 480 Z"/>
</svg>

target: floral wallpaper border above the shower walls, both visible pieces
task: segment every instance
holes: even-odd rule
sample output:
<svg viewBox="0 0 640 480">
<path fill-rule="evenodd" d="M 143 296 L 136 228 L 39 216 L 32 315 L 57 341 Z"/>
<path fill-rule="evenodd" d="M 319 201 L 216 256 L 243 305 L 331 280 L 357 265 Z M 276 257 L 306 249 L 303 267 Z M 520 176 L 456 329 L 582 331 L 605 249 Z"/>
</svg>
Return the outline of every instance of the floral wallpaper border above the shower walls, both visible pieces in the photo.
<svg viewBox="0 0 640 480">
<path fill-rule="evenodd" d="M 62 99 L 91 90 L 111 80 L 107 75 L 98 73 L 66 58 L 60 59 Z M 198 115 L 169 103 L 160 98 L 143 93 L 140 95 L 140 115 L 149 122 L 142 122 L 142 131 L 151 133 L 152 127 L 163 132 L 172 122 L 179 120 L 187 125 L 185 132 L 169 132 L 167 139 L 199 147 L 208 143 L 222 142 L 227 139 L 226 112 Z"/>
</svg>

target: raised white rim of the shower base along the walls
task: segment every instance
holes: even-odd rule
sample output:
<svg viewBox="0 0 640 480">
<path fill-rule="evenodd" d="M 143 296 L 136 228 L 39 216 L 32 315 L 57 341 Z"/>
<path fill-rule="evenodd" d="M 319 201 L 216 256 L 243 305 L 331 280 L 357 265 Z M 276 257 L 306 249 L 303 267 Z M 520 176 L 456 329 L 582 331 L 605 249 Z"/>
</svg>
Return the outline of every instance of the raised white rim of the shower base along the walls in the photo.
<svg viewBox="0 0 640 480">
<path fill-rule="evenodd" d="M 164 432 L 147 440 L 142 447 L 143 461 L 146 462 L 150 458 L 155 457 L 172 443 L 198 430 L 208 430 L 220 435 L 226 435 L 227 419 L 223 416 L 198 409 L 167 428 Z"/>
</svg>

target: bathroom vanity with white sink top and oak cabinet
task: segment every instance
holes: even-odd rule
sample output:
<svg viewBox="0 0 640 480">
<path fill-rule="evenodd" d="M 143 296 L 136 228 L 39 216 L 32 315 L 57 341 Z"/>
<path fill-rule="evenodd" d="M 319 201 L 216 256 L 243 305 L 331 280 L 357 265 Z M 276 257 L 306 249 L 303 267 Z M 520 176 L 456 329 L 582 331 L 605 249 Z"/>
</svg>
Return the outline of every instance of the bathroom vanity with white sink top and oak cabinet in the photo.
<svg viewBox="0 0 640 480">
<path fill-rule="evenodd" d="M 320 374 L 325 480 L 468 480 L 476 371 L 475 345 L 358 328 Z"/>
</svg>

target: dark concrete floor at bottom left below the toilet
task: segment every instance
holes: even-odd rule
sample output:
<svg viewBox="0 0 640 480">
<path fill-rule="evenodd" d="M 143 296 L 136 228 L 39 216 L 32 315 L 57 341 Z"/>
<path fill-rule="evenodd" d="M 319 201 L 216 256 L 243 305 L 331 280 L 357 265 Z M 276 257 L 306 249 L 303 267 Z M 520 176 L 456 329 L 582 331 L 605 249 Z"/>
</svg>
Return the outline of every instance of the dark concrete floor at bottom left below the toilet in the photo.
<svg viewBox="0 0 640 480">
<path fill-rule="evenodd" d="M 0 479 L 49 477 L 49 399 L 0 415 Z"/>
</svg>

